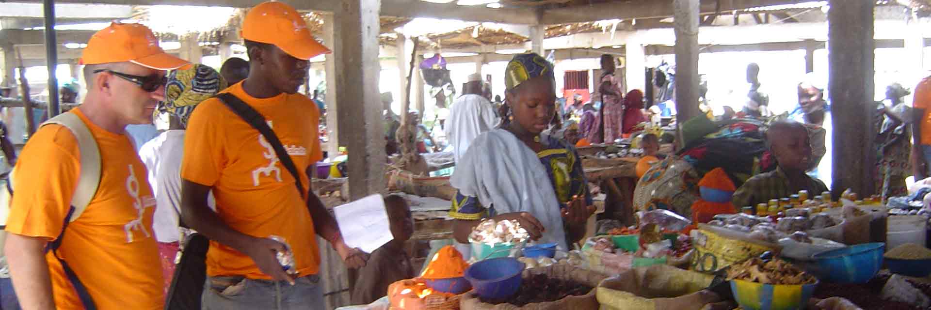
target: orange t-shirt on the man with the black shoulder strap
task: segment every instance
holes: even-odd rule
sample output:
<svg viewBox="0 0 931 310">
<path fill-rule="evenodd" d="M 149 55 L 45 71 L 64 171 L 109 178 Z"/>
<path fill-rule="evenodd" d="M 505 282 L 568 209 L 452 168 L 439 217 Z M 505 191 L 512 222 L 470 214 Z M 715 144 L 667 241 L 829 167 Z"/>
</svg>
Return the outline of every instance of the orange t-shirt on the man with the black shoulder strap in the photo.
<svg viewBox="0 0 931 310">
<path fill-rule="evenodd" d="M 238 83 L 223 92 L 247 102 L 269 122 L 294 161 L 306 189 L 310 165 L 323 158 L 317 104 L 301 94 L 257 99 Z M 217 212 L 230 228 L 250 236 L 281 236 L 290 244 L 300 276 L 317 274 L 320 258 L 314 222 L 288 169 L 258 130 L 219 99 L 201 102 L 184 138 L 182 179 L 212 187 Z M 209 276 L 270 279 L 236 249 L 210 241 Z"/>
</svg>

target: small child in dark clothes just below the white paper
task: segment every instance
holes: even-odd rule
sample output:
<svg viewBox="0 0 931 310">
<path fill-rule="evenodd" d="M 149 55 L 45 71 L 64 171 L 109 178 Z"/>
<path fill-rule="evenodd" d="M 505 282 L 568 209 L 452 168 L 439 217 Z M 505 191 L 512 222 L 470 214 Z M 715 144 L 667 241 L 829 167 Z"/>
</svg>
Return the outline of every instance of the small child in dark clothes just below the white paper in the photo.
<svg viewBox="0 0 931 310">
<path fill-rule="evenodd" d="M 385 209 L 395 238 L 371 252 L 369 262 L 358 270 L 352 304 L 374 302 L 387 294 L 391 283 L 414 277 L 411 257 L 404 250 L 404 242 L 413 235 L 411 209 L 399 195 L 385 197 Z"/>
</svg>

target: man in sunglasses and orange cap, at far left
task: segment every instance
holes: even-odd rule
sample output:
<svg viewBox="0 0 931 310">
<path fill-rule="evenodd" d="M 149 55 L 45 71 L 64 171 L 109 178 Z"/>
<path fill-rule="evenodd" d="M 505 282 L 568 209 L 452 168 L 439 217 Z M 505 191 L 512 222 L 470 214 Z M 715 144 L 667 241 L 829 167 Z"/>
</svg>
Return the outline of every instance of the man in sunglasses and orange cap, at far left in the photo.
<svg viewBox="0 0 931 310">
<path fill-rule="evenodd" d="M 145 26 L 121 23 L 94 34 L 81 61 L 88 95 L 74 115 L 61 115 L 75 122 L 36 131 L 14 168 L 6 227 L 13 286 L 25 309 L 161 309 L 155 198 L 124 128 L 152 122 L 165 71 L 188 62 L 166 54 Z M 88 193 L 81 174 L 92 168 L 82 167 L 88 143 L 78 137 L 87 136 L 74 124 L 88 129 L 100 155 L 99 185 L 84 209 L 73 197 Z"/>
</svg>

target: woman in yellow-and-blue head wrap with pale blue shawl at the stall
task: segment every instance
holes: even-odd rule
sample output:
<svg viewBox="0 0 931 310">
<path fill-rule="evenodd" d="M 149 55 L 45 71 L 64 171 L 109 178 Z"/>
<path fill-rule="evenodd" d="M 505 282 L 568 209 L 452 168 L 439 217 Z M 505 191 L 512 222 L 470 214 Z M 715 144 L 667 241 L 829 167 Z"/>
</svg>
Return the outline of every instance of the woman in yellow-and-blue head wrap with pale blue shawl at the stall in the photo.
<svg viewBox="0 0 931 310">
<path fill-rule="evenodd" d="M 482 219 L 516 220 L 533 239 L 570 249 L 585 235 L 592 201 L 575 150 L 541 135 L 556 109 L 553 66 L 517 55 L 505 81 L 501 126 L 472 142 L 452 174 L 453 236 L 467 244 Z"/>
</svg>

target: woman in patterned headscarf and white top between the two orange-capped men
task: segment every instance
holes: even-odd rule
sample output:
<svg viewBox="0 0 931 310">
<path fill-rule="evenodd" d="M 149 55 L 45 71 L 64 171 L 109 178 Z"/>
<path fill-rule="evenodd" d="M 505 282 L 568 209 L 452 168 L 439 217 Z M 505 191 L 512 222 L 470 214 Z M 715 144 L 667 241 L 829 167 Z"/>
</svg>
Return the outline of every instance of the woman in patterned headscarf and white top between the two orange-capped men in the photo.
<svg viewBox="0 0 931 310">
<path fill-rule="evenodd" d="M 155 195 L 153 230 L 158 241 L 158 255 L 168 292 L 174 275 L 175 256 L 183 240 L 178 229 L 181 212 L 181 160 L 184 149 L 184 128 L 191 112 L 226 88 L 226 81 L 216 70 L 203 64 L 172 71 L 165 87 L 165 101 L 155 109 L 155 124 L 162 132 L 155 139 L 142 144 L 139 157 L 148 169 L 149 184 Z M 209 198 L 213 206 L 212 197 Z"/>
</svg>

